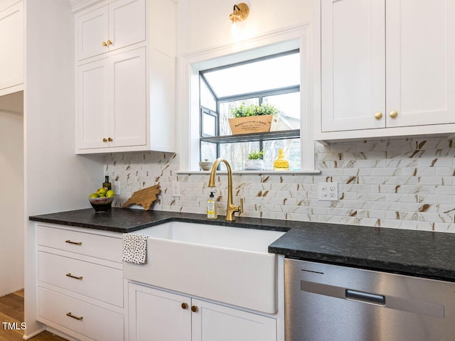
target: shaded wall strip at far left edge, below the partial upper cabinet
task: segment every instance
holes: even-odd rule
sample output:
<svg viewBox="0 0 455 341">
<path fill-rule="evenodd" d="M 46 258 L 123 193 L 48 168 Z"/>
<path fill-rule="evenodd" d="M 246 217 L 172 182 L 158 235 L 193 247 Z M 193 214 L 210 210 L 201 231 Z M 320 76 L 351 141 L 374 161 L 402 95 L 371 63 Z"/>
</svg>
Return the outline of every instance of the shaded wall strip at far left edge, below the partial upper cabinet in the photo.
<svg viewBox="0 0 455 341">
<path fill-rule="evenodd" d="M 23 288 L 23 114 L 0 109 L 0 296 Z"/>
</svg>

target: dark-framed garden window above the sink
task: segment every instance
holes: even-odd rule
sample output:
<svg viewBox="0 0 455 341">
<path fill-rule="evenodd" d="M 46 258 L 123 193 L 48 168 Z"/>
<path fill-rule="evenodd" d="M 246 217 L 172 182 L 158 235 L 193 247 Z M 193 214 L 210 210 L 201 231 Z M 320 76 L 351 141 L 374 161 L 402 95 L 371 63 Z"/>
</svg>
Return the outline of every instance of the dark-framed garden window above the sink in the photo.
<svg viewBox="0 0 455 341">
<path fill-rule="evenodd" d="M 248 153 L 262 150 L 264 170 L 272 170 L 282 148 L 290 169 L 301 168 L 300 58 L 297 49 L 199 72 L 201 161 L 223 156 L 240 171 Z M 276 107 L 272 129 L 233 135 L 230 111 L 241 104 Z"/>
</svg>

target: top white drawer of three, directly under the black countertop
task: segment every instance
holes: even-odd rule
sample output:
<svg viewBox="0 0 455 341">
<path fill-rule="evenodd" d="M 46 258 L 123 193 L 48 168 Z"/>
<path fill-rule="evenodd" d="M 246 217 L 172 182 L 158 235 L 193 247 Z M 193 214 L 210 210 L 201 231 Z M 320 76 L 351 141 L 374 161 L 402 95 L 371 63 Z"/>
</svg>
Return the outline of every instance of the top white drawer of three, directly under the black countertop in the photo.
<svg viewBox="0 0 455 341">
<path fill-rule="evenodd" d="M 121 238 L 38 225 L 38 244 L 122 263 Z"/>
</svg>

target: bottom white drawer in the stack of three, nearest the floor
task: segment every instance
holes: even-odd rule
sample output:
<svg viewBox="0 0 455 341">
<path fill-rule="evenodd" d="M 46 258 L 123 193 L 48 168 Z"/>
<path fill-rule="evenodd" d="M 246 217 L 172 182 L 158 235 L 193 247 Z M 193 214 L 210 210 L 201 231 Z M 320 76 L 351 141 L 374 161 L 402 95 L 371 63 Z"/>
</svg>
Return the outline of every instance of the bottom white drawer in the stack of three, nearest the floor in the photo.
<svg viewBox="0 0 455 341">
<path fill-rule="evenodd" d="M 38 288 L 39 318 L 50 320 L 93 340 L 124 340 L 123 315 L 45 288 Z"/>
</svg>

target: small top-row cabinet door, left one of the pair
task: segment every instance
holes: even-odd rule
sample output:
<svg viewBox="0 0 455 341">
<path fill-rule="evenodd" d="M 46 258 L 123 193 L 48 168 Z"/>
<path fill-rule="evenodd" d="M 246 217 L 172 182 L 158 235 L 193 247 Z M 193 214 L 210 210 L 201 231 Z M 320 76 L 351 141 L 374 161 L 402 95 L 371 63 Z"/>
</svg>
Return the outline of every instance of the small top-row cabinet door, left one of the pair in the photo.
<svg viewBox="0 0 455 341">
<path fill-rule="evenodd" d="M 107 6 L 104 6 L 76 18 L 78 60 L 109 51 L 106 43 L 109 38 L 108 14 Z"/>
</svg>

